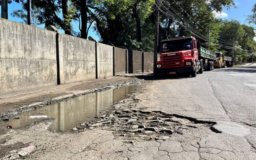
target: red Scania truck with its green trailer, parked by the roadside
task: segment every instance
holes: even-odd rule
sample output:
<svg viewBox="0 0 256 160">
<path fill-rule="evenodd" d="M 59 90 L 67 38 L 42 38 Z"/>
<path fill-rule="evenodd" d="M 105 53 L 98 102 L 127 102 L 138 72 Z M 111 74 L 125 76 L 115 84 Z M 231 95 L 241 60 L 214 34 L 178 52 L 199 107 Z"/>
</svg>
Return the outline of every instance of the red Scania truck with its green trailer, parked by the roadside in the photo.
<svg viewBox="0 0 256 160">
<path fill-rule="evenodd" d="M 160 61 L 156 62 L 156 74 L 197 73 L 213 70 L 216 54 L 204 49 L 192 36 L 174 37 L 161 41 Z"/>
</svg>

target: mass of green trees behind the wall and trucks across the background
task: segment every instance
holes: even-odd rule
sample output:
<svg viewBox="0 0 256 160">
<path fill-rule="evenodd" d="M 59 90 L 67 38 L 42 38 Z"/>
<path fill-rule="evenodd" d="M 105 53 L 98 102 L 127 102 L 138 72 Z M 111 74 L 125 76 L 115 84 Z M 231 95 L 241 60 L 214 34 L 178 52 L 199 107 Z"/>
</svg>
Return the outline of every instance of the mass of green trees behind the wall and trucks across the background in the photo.
<svg viewBox="0 0 256 160">
<path fill-rule="evenodd" d="M 0 0 L 1 1 L 1 0 Z M 13 11 L 12 16 L 26 20 L 27 5 Z M 32 25 L 54 25 L 65 34 L 88 38 L 92 28 L 100 42 L 111 42 L 127 49 L 154 50 L 155 0 L 57 0 L 32 1 Z M 189 4 L 189 5 L 188 5 Z M 251 26 L 238 20 L 222 20 L 217 15 L 224 8 L 236 7 L 234 0 L 162 0 L 160 5 L 160 40 L 175 36 L 196 36 L 207 48 L 210 23 L 210 50 L 221 51 L 235 59 L 250 59 L 256 46 L 256 4 L 248 15 Z M 74 26 L 78 24 L 79 30 Z M 254 56 L 256 57 L 256 56 Z M 255 60 L 255 58 L 254 58 Z"/>
</svg>

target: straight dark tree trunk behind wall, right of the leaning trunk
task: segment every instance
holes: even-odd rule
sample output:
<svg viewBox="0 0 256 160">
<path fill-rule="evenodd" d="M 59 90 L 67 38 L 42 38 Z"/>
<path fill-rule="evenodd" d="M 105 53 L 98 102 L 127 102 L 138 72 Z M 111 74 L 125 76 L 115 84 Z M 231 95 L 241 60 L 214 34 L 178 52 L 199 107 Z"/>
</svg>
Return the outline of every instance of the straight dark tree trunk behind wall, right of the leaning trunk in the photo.
<svg viewBox="0 0 256 160">
<path fill-rule="evenodd" d="M 81 38 L 87 39 L 87 0 L 81 0 Z"/>
</svg>

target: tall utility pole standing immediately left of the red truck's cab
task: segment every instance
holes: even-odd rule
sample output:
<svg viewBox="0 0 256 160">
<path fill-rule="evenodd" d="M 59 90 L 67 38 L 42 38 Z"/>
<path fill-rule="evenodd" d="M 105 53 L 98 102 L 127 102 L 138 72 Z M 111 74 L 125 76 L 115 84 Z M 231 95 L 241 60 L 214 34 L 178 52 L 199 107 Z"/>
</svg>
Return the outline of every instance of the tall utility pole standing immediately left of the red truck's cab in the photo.
<svg viewBox="0 0 256 160">
<path fill-rule="evenodd" d="M 156 73 L 157 46 L 158 46 L 158 30 L 159 30 L 159 5 L 161 0 L 156 4 L 156 20 L 155 20 L 155 46 L 154 46 L 154 73 Z"/>
</svg>

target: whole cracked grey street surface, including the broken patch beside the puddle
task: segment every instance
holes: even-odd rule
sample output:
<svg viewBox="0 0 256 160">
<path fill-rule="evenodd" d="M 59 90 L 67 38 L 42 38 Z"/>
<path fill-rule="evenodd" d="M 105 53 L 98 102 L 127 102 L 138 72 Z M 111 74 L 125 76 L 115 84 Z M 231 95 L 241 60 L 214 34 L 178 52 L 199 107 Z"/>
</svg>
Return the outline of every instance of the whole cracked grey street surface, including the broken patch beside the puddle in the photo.
<svg viewBox="0 0 256 160">
<path fill-rule="evenodd" d="M 117 104 L 111 115 L 118 119 L 117 125 L 96 123 L 81 132 L 51 132 L 48 127 L 53 120 L 44 120 L 5 129 L 0 147 L 36 146 L 26 159 L 255 159 L 255 79 L 254 64 L 205 71 L 195 78 L 146 80 L 130 101 Z M 123 118 L 128 122 L 122 123 L 120 117 L 127 115 L 140 118 L 130 119 L 131 123 Z M 151 116 L 158 123 L 148 121 Z M 120 131 L 139 123 L 159 132 Z M 163 125 L 173 133 L 161 132 Z"/>
</svg>

